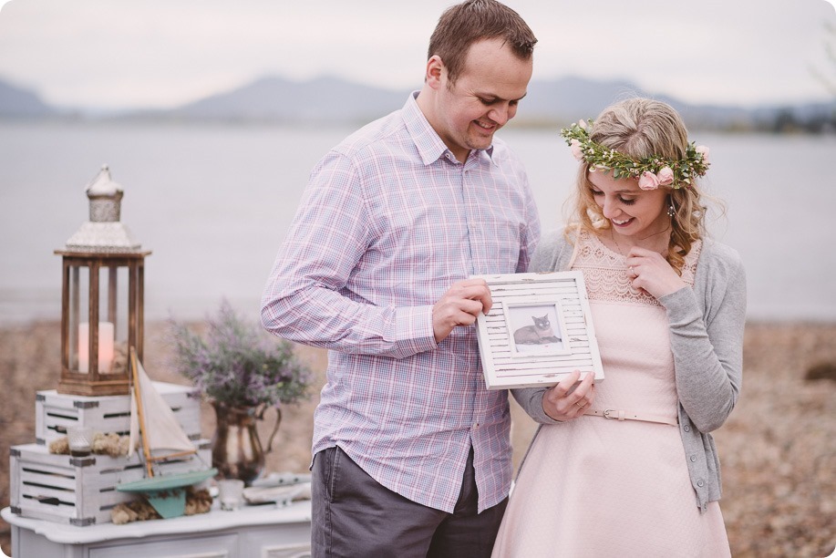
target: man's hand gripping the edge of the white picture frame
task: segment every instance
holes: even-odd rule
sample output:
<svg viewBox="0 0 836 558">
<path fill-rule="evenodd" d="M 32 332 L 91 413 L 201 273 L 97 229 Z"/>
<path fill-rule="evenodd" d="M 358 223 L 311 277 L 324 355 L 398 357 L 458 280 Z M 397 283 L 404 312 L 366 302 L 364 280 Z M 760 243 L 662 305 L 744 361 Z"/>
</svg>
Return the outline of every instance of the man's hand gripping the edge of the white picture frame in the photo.
<svg viewBox="0 0 836 558">
<path fill-rule="evenodd" d="M 450 286 L 432 307 L 432 331 L 440 343 L 457 325 L 476 322 L 480 312 L 490 312 L 493 301 L 484 279 L 465 279 Z"/>
</svg>

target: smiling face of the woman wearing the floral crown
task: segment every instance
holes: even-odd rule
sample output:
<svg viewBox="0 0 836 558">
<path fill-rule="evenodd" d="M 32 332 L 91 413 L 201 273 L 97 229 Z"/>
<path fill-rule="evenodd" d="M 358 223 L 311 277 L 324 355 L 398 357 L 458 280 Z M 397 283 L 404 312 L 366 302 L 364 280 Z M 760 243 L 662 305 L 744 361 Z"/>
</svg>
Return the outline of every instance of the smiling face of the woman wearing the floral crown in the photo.
<svg viewBox="0 0 836 558">
<path fill-rule="evenodd" d="M 635 240 L 661 233 L 670 225 L 664 187 L 642 190 L 636 179 L 614 179 L 612 172 L 589 172 L 593 199 L 613 232 Z"/>
</svg>

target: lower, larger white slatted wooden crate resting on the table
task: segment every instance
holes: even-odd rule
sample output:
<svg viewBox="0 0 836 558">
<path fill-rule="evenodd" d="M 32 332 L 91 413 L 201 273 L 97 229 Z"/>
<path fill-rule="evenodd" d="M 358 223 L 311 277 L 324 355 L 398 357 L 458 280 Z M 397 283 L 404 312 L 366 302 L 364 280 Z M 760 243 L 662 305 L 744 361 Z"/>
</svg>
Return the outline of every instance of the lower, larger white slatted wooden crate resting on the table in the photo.
<svg viewBox="0 0 836 558">
<path fill-rule="evenodd" d="M 160 474 L 211 467 L 211 442 L 200 439 L 195 447 L 195 456 L 160 463 Z M 131 458 L 72 457 L 49 453 L 39 444 L 13 446 L 10 454 L 12 513 L 50 522 L 77 526 L 110 522 L 112 508 L 137 497 L 117 491 L 116 486 L 145 476 L 137 454 Z"/>
</svg>

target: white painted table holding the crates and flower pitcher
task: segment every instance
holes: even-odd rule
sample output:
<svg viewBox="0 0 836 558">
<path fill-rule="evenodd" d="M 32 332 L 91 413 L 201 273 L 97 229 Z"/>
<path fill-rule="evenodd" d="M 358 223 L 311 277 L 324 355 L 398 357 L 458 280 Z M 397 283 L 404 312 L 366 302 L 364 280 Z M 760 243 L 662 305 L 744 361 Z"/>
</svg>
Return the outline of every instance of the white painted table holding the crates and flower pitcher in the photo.
<svg viewBox="0 0 836 558">
<path fill-rule="evenodd" d="M 302 558 L 310 556 L 311 502 L 244 506 L 167 520 L 76 527 L 0 511 L 14 558 Z"/>
</svg>

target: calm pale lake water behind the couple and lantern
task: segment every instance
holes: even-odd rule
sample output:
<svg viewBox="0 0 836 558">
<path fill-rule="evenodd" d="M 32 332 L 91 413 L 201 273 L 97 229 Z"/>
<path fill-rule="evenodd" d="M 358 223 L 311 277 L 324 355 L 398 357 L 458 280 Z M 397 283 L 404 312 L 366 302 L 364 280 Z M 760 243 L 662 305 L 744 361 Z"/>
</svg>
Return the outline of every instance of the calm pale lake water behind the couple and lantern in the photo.
<svg viewBox="0 0 836 558">
<path fill-rule="evenodd" d="M 201 318 L 222 298 L 257 312 L 308 173 L 349 128 L 0 123 L 0 324 L 60 317 L 61 258 L 103 163 L 146 259 L 146 317 Z M 576 163 L 551 130 L 506 129 L 544 228 L 562 223 Z M 695 134 L 711 149 L 712 222 L 741 253 L 748 317 L 836 320 L 834 137 Z"/>
</svg>

